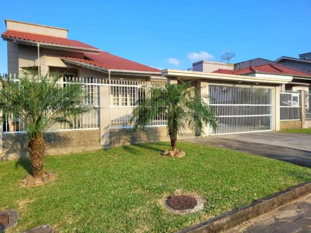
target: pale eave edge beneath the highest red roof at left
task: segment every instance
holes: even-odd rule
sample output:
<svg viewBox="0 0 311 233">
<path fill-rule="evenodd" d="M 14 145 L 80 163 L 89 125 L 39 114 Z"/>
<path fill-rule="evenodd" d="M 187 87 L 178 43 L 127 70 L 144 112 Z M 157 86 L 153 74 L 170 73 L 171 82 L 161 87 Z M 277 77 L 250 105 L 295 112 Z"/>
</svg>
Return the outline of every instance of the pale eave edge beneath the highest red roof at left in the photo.
<svg viewBox="0 0 311 233">
<path fill-rule="evenodd" d="M 52 48 L 52 49 L 57 49 L 57 50 L 89 52 L 89 53 L 95 53 L 95 54 L 99 54 L 101 51 L 99 49 L 90 49 L 90 48 L 75 47 L 75 46 L 68 46 L 68 45 L 58 45 L 58 44 L 37 42 L 37 41 L 31 41 L 31 40 L 23 40 L 23 39 L 17 39 L 17 38 L 12 38 L 12 37 L 3 36 L 3 35 L 1 35 L 1 38 L 3 40 L 11 40 L 11 41 L 17 42 L 18 44 L 26 44 L 26 45 L 31 45 L 31 46 L 37 46 L 39 44 L 40 47 Z"/>
</svg>

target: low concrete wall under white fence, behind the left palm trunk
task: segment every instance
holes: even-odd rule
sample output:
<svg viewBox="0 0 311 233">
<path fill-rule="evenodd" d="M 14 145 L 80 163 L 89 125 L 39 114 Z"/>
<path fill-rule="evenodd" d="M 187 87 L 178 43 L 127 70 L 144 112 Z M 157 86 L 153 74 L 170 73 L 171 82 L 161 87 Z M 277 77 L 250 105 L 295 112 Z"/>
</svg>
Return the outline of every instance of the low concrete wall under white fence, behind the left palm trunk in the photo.
<svg viewBox="0 0 311 233">
<path fill-rule="evenodd" d="M 99 130 L 48 132 L 44 138 L 46 140 L 46 155 L 102 148 Z M 27 135 L 25 133 L 3 134 L 3 151 L 0 153 L 0 161 L 25 156 L 27 156 Z"/>
</svg>

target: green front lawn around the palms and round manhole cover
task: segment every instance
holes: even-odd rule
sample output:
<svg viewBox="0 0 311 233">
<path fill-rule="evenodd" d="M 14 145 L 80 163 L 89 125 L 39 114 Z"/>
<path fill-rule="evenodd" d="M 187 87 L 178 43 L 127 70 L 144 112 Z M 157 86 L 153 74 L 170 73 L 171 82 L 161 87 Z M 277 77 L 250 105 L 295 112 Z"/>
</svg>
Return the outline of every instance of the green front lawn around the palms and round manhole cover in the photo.
<svg viewBox="0 0 311 233">
<path fill-rule="evenodd" d="M 0 163 L 0 210 L 17 209 L 21 232 L 49 223 L 56 232 L 175 232 L 310 180 L 306 167 L 232 150 L 179 142 L 183 158 L 160 156 L 169 143 L 47 156 L 58 179 L 21 188 L 29 161 Z M 207 200 L 204 211 L 167 212 L 163 200 L 181 192 Z"/>
</svg>

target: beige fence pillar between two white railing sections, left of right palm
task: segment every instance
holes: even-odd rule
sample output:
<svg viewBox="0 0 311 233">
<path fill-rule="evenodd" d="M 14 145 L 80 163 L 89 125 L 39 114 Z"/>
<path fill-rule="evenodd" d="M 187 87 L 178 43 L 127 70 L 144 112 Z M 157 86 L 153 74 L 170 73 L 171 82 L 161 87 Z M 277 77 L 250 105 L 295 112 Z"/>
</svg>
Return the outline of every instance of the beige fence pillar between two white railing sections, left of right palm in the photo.
<svg viewBox="0 0 311 233">
<path fill-rule="evenodd" d="M 101 131 L 101 145 L 104 147 L 109 146 L 109 124 L 110 124 L 110 108 L 109 108 L 109 86 L 99 87 L 100 95 L 100 131 Z"/>
</svg>

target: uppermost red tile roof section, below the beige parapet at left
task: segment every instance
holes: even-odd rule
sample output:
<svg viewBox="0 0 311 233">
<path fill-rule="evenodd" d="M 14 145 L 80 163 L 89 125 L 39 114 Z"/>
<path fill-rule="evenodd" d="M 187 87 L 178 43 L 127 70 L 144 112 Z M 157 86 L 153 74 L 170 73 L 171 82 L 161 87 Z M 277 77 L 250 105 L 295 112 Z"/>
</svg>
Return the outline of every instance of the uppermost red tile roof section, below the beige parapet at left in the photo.
<svg viewBox="0 0 311 233">
<path fill-rule="evenodd" d="M 42 34 L 35 34 L 35 33 L 25 33 L 25 32 L 18 32 L 7 30 L 6 32 L 1 34 L 2 37 L 9 37 L 15 39 L 22 39 L 22 40 L 29 40 L 35 42 L 42 42 L 42 43 L 49 43 L 55 45 L 64 45 L 64 46 L 71 46 L 71 47 L 78 47 L 83 49 L 89 50 L 98 50 L 97 48 L 87 45 L 83 42 L 77 40 L 69 40 L 67 38 L 50 36 L 50 35 L 42 35 Z"/>
</svg>

